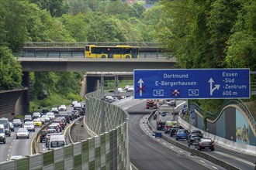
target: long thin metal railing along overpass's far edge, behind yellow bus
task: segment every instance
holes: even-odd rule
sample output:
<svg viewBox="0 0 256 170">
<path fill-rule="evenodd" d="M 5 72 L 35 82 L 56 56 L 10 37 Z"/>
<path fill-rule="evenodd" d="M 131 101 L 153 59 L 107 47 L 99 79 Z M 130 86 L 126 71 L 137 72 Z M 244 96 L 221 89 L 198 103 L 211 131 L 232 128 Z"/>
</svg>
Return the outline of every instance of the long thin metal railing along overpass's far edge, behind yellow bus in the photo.
<svg viewBox="0 0 256 170">
<path fill-rule="evenodd" d="M 85 47 L 96 46 L 139 46 L 147 48 L 160 47 L 158 42 L 25 42 L 23 47 Z"/>
</svg>

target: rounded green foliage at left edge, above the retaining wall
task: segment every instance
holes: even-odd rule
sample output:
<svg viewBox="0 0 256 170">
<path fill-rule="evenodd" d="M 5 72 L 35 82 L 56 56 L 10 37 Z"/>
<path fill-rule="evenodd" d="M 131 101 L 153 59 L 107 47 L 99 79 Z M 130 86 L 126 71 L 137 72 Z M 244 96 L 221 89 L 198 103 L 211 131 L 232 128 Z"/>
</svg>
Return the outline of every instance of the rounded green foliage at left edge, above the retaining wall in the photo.
<svg viewBox="0 0 256 170">
<path fill-rule="evenodd" d="M 22 69 L 12 52 L 0 46 L 0 90 L 12 90 L 22 83 Z"/>
</svg>

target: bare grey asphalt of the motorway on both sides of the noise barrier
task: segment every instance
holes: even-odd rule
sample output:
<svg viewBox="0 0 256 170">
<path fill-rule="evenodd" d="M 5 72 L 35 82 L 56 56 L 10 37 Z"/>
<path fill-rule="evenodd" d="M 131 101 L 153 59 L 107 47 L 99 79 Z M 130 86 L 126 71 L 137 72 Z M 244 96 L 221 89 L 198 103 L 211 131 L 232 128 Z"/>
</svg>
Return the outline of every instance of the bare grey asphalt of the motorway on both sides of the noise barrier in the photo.
<svg viewBox="0 0 256 170">
<path fill-rule="evenodd" d="M 175 110 L 181 109 L 182 104 L 185 102 L 178 101 L 178 107 Z M 68 109 L 71 110 L 71 108 Z M 150 131 L 145 123 L 150 111 L 151 109 L 145 108 L 145 103 L 127 110 L 130 114 L 129 155 L 133 169 L 224 169 L 206 159 L 191 155 L 190 152 L 177 148 L 162 138 L 155 138 L 154 132 Z M 156 128 L 153 118 L 150 118 L 149 123 Z M 16 139 L 15 133 L 12 132 L 12 136 L 7 138 L 6 144 L 0 144 L 0 162 L 9 160 L 12 155 L 30 155 L 30 143 L 37 131 L 39 128 L 36 128 L 35 132 L 30 132 L 29 139 Z M 162 135 L 171 138 L 169 134 L 164 134 L 164 132 Z M 175 138 L 171 139 L 175 140 Z M 187 141 L 178 142 L 188 145 Z M 38 146 L 39 151 L 47 150 L 44 143 L 38 143 Z M 216 145 L 215 151 L 204 152 L 240 169 L 253 170 L 256 162 L 255 155 L 233 151 L 232 148 L 227 149 L 219 145 Z"/>
</svg>

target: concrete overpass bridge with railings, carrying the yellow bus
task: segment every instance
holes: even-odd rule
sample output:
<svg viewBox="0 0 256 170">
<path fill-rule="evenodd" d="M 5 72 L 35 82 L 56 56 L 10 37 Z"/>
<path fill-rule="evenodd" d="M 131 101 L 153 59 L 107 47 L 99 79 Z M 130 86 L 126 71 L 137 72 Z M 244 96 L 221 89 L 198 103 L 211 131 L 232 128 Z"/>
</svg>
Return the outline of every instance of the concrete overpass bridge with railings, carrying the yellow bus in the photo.
<svg viewBox="0 0 256 170">
<path fill-rule="evenodd" d="M 138 59 L 88 59 L 85 45 L 139 46 Z M 28 42 L 18 56 L 23 71 L 133 72 L 134 69 L 171 69 L 175 57 L 164 56 L 155 42 Z"/>
</svg>

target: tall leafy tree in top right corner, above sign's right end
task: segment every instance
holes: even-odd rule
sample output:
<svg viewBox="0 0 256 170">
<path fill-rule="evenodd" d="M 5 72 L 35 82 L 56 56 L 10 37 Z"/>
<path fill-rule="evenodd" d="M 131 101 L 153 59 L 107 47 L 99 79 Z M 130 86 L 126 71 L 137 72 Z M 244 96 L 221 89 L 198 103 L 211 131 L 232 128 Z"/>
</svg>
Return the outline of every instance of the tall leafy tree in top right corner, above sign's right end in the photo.
<svg viewBox="0 0 256 170">
<path fill-rule="evenodd" d="M 245 1 L 227 41 L 227 65 L 256 70 L 256 2 Z"/>
</svg>

